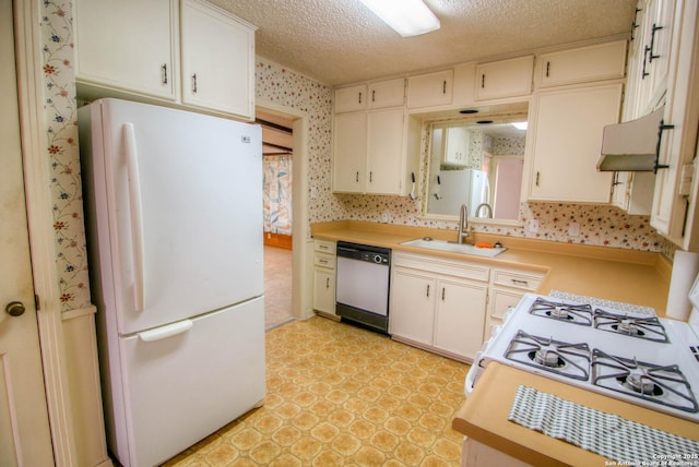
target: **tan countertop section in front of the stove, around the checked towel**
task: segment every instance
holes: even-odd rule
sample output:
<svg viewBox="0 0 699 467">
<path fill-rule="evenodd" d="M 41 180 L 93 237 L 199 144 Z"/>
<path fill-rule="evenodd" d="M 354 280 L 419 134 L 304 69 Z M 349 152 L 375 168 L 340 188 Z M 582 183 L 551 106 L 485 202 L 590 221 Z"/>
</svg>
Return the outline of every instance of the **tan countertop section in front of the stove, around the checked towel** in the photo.
<svg viewBox="0 0 699 467">
<path fill-rule="evenodd" d="M 497 362 L 491 362 L 478 380 L 473 393 L 457 414 L 452 422 L 453 429 L 534 466 L 612 465 L 605 464 L 608 459 L 597 454 L 508 421 L 507 415 L 520 385 L 534 387 L 595 410 L 616 414 L 657 430 L 699 441 L 699 424 L 691 421 L 605 397 Z"/>
</svg>

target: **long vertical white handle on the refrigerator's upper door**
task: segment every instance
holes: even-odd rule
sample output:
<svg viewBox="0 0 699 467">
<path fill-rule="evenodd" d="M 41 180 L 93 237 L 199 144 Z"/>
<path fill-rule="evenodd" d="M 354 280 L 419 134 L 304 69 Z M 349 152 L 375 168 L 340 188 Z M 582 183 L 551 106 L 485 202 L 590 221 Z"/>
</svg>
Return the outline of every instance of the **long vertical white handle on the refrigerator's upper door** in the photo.
<svg viewBox="0 0 699 467">
<path fill-rule="evenodd" d="M 143 285 L 143 216 L 133 123 L 125 123 L 122 131 L 126 145 L 127 170 L 129 173 L 129 207 L 131 211 L 131 242 L 133 246 L 133 307 L 135 311 L 143 311 L 145 308 Z"/>
</svg>

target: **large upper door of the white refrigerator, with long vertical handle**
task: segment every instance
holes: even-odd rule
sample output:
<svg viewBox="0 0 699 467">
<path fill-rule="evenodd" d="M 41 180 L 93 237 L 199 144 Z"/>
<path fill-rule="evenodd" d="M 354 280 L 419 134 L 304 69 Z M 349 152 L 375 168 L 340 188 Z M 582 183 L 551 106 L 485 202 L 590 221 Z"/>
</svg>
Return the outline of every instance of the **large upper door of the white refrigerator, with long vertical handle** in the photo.
<svg viewBox="0 0 699 467">
<path fill-rule="evenodd" d="M 108 212 L 97 235 L 108 239 L 99 254 L 112 263 L 102 261 L 102 282 L 114 287 L 119 335 L 261 296 L 259 125 L 115 99 L 97 104 L 105 135 L 94 189 L 105 190 Z"/>
</svg>

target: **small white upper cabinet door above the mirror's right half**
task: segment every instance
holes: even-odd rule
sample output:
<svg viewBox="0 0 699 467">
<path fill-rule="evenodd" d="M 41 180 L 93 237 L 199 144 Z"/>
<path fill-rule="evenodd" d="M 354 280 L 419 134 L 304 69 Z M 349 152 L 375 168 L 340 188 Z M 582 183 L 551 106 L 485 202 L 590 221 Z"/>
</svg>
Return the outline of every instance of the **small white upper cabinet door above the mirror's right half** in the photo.
<svg viewBox="0 0 699 467">
<path fill-rule="evenodd" d="M 476 100 L 529 96 L 534 56 L 482 63 L 476 67 Z"/>
</svg>

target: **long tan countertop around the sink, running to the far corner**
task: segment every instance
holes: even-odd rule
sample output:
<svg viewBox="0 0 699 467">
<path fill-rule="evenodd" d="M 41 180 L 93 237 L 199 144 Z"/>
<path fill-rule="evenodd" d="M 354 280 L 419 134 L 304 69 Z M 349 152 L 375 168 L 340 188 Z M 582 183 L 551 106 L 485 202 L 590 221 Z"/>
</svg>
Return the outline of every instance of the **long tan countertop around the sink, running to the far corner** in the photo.
<svg viewBox="0 0 699 467">
<path fill-rule="evenodd" d="M 665 315 L 672 264 L 661 253 L 475 234 L 470 242 L 500 241 L 508 249 L 496 258 L 482 258 L 401 244 L 426 236 L 454 240 L 455 230 L 360 221 L 316 224 L 311 234 L 321 240 L 372 244 L 491 266 L 538 270 L 546 273 L 536 290 L 538 294 L 547 295 L 556 289 L 652 307 L 659 315 Z"/>
</svg>

